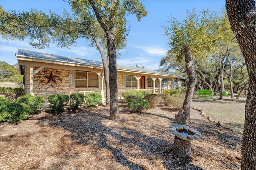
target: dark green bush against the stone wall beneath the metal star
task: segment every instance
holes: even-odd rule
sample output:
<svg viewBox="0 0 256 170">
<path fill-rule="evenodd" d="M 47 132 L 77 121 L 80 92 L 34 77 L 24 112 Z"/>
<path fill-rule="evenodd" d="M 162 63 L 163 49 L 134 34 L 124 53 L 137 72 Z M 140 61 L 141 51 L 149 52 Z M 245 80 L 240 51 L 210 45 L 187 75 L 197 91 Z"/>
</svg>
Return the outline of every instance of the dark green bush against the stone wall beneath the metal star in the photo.
<svg viewBox="0 0 256 170">
<path fill-rule="evenodd" d="M 68 104 L 69 96 L 64 94 L 54 94 L 48 97 L 52 113 L 61 113 L 64 111 L 64 106 Z"/>
</svg>

